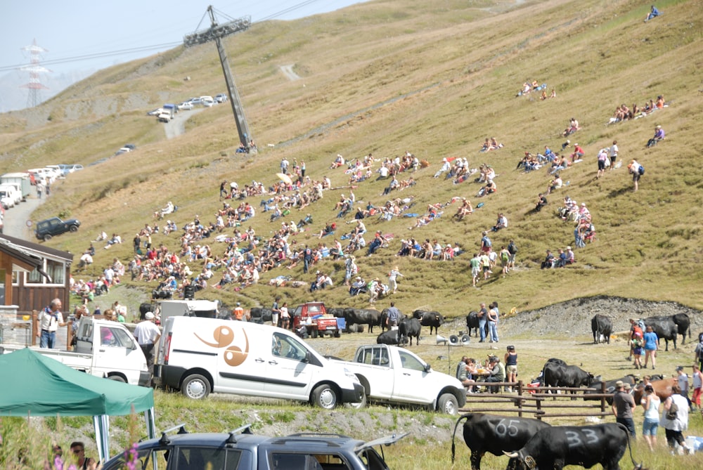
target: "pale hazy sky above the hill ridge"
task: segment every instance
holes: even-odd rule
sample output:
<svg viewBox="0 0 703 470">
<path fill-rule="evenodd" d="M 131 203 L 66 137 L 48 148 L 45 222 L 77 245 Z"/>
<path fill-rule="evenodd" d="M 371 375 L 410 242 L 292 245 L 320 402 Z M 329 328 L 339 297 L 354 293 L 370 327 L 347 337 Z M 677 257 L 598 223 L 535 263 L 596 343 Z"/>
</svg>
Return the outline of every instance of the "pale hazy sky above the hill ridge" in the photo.
<svg viewBox="0 0 703 470">
<path fill-rule="evenodd" d="M 209 27 L 209 5 L 222 23 L 227 19 L 217 12 L 231 18 L 249 15 L 252 22 L 292 20 L 363 1 L 5 0 L 0 6 L 0 74 L 28 64 L 30 55 L 22 48 L 35 39 L 48 51 L 41 55 L 44 66 L 55 73 L 100 69 L 181 44 L 184 34 Z M 106 56 L 117 51 L 124 52 Z M 93 58 L 67 61 L 84 56 Z"/>
</svg>

